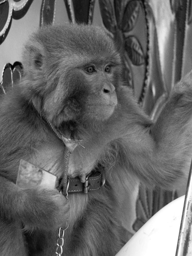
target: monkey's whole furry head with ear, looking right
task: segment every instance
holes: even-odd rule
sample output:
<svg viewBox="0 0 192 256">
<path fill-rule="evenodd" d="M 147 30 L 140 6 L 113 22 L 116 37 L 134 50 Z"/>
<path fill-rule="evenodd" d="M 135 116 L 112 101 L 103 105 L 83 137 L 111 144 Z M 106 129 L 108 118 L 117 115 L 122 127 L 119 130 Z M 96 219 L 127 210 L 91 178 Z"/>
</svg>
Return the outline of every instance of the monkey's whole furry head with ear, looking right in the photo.
<svg viewBox="0 0 192 256">
<path fill-rule="evenodd" d="M 57 128 L 67 122 L 103 122 L 118 104 L 121 57 L 99 27 L 40 29 L 26 44 L 23 66 L 25 97 Z"/>
</svg>

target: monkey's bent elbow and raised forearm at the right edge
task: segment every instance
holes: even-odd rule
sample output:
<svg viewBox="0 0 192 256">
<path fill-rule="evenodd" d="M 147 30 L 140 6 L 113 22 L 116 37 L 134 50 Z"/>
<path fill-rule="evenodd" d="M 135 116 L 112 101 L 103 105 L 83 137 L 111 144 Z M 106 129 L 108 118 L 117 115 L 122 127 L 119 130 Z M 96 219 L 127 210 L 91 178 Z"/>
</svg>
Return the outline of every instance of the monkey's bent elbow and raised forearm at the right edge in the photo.
<svg viewBox="0 0 192 256">
<path fill-rule="evenodd" d="M 192 73 L 175 85 L 155 124 L 135 124 L 120 139 L 120 159 L 145 182 L 172 189 L 186 186 L 192 157 Z"/>
</svg>

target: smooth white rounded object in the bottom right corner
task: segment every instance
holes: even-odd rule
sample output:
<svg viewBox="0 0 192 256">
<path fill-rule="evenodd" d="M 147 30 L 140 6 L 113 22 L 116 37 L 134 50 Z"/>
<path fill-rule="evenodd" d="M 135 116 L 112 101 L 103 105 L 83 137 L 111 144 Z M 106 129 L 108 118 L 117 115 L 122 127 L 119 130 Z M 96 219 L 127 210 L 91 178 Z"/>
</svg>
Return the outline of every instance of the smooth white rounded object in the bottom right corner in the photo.
<svg viewBox="0 0 192 256">
<path fill-rule="evenodd" d="M 175 256 L 185 196 L 157 212 L 116 256 Z"/>
</svg>

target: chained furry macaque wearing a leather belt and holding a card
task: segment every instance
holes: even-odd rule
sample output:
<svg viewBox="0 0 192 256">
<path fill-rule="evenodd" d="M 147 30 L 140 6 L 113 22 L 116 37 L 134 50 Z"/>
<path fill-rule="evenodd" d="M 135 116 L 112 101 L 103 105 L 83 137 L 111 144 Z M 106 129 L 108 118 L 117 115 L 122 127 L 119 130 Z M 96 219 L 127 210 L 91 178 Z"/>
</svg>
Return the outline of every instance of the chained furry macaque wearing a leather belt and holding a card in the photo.
<svg viewBox="0 0 192 256">
<path fill-rule="evenodd" d="M 63 255 L 115 255 L 126 242 L 117 184 L 126 193 L 129 173 L 166 189 L 185 184 L 192 73 L 153 124 L 125 86 L 121 55 L 99 27 L 44 27 L 26 44 L 22 63 L 21 82 L 0 100 L 0 255 L 54 255 L 67 219 Z M 63 176 L 67 148 L 53 131 L 84 147 L 70 154 L 68 177 L 84 182 L 98 167 L 106 175 L 102 188 L 69 193 L 67 200 L 56 188 L 15 184 L 20 159 Z"/>
</svg>

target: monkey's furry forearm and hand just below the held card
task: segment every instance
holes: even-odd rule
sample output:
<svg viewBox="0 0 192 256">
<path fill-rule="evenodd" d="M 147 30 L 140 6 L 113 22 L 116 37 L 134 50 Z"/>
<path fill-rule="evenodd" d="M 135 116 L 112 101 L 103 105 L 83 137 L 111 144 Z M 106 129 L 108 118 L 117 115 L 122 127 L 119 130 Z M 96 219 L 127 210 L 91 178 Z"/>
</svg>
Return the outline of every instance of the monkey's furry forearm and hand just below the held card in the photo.
<svg viewBox="0 0 192 256">
<path fill-rule="evenodd" d="M 1 215 L 20 220 L 28 230 L 58 228 L 68 218 L 67 199 L 56 189 L 22 189 L 0 177 L 0 194 Z"/>
</svg>

